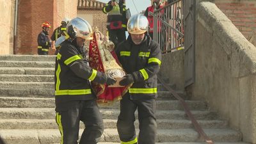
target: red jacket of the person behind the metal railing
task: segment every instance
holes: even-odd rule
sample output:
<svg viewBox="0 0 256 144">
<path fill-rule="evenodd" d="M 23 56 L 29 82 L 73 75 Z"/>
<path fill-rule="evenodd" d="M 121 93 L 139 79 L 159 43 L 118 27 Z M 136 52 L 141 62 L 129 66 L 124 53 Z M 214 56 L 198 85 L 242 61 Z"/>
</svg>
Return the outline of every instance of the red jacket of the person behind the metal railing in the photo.
<svg viewBox="0 0 256 144">
<path fill-rule="evenodd" d="M 156 9 L 158 10 L 159 8 L 163 8 L 163 6 L 159 5 Z M 149 12 L 154 12 L 154 6 L 148 6 L 148 8 L 146 9 L 144 15 L 145 17 L 147 17 L 148 19 L 148 24 L 149 24 L 149 32 L 153 33 L 154 30 L 154 19 L 153 16 L 149 14 Z M 161 10 L 161 15 L 164 14 L 164 10 Z M 161 17 L 160 15 L 160 17 Z M 161 22 L 157 22 L 157 32 L 159 32 L 161 29 Z"/>
</svg>

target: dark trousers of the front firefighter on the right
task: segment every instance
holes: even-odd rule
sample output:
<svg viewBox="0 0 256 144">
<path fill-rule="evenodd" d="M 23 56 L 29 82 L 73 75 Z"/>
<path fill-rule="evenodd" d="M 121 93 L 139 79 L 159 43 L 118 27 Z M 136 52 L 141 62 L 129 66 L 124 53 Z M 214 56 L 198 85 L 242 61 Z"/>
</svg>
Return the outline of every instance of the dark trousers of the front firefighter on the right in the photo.
<svg viewBox="0 0 256 144">
<path fill-rule="evenodd" d="M 154 144 L 156 141 L 156 99 L 131 100 L 126 93 L 120 101 L 120 115 L 117 121 L 117 130 L 122 142 L 136 143 L 134 127 L 134 112 L 138 109 L 140 133 L 138 144 Z"/>
</svg>

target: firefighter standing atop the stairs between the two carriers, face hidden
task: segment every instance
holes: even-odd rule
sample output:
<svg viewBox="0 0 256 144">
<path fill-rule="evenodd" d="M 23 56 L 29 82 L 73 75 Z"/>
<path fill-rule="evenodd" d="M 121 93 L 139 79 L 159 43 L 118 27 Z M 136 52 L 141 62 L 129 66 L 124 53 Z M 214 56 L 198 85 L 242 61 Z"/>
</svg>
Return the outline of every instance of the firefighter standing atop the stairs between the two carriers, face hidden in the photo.
<svg viewBox="0 0 256 144">
<path fill-rule="evenodd" d="M 115 45 L 126 40 L 126 10 L 125 0 L 111 0 L 102 8 L 103 13 L 108 13 L 107 29 L 109 40 Z"/>
</svg>

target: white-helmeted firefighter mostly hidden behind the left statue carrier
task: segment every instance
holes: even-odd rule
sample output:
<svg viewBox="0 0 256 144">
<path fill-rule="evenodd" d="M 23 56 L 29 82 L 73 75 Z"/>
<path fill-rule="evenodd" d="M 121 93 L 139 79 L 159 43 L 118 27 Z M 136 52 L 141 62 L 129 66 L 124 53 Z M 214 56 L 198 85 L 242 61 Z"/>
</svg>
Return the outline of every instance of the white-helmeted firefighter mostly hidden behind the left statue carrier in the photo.
<svg viewBox="0 0 256 144">
<path fill-rule="evenodd" d="M 56 41 L 58 38 L 60 38 L 60 36 L 62 35 L 63 31 L 66 30 L 67 24 L 69 22 L 69 19 L 67 17 L 65 17 L 63 20 L 61 20 L 61 26 L 59 26 L 58 28 L 54 29 L 52 36 L 51 36 L 51 40 L 52 41 Z M 52 45 L 53 46 L 53 45 Z M 55 47 L 56 51 L 55 51 L 55 55 L 58 54 L 60 47 Z"/>
</svg>

